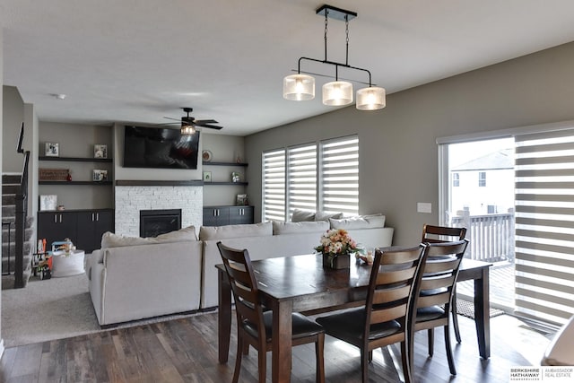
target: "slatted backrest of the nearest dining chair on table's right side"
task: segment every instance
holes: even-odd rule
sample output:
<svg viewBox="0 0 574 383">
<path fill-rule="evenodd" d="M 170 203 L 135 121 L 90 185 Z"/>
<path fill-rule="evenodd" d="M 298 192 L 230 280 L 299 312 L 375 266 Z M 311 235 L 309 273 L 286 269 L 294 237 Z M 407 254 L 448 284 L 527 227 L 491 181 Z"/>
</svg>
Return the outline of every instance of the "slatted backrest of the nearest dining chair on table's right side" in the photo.
<svg viewBox="0 0 574 383">
<path fill-rule="evenodd" d="M 413 302 L 422 276 L 427 245 L 375 252 L 367 293 L 365 338 L 370 326 L 396 319 L 406 329 L 412 322 Z M 392 265 L 392 267 L 387 267 Z"/>
</svg>

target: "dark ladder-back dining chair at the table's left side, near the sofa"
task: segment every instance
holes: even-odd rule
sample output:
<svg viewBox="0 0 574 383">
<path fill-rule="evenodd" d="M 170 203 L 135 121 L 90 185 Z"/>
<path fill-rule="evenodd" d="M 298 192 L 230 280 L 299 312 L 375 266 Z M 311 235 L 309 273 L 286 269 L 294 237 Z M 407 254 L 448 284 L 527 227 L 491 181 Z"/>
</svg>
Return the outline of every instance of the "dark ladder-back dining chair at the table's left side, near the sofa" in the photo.
<svg viewBox="0 0 574 383">
<path fill-rule="evenodd" d="M 237 314 L 237 356 L 233 383 L 239 379 L 243 353 L 248 352 L 249 344 L 257 350 L 259 382 L 265 382 L 266 353 L 271 351 L 273 312 L 265 310 L 260 300 L 257 280 L 247 249 L 229 248 L 217 242 L 223 265 L 229 277 L 231 292 L 235 300 Z M 317 357 L 317 383 L 325 382 L 323 350 L 325 331 L 315 321 L 300 313 L 292 314 L 291 346 L 315 344 Z"/>
</svg>

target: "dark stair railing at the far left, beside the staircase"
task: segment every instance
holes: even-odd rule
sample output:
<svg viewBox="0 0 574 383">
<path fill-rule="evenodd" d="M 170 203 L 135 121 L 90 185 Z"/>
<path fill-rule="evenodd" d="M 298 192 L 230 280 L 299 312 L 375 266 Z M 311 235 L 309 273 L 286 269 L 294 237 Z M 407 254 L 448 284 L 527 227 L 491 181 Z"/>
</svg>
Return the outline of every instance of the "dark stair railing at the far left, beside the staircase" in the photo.
<svg viewBox="0 0 574 383">
<path fill-rule="evenodd" d="M 24 239 L 26 231 L 26 217 L 28 216 L 28 166 L 30 162 L 30 151 L 22 149 L 22 140 L 24 137 L 24 123 L 20 127 L 16 152 L 23 153 L 24 164 L 22 167 L 22 177 L 20 178 L 20 187 L 16 191 L 15 201 L 15 223 L 14 233 L 14 288 L 21 289 L 24 287 Z"/>
</svg>

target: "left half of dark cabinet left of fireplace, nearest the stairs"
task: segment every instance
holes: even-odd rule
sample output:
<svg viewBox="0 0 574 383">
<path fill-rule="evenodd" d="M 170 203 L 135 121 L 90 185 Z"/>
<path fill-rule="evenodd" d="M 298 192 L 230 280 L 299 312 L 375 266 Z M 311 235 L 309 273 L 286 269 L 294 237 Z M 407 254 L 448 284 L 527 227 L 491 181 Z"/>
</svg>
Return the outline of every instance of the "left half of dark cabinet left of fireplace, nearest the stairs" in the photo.
<svg viewBox="0 0 574 383">
<path fill-rule="evenodd" d="M 38 213 L 38 239 L 46 239 L 46 247 L 52 249 L 52 242 L 77 237 L 77 219 L 74 212 Z"/>
</svg>

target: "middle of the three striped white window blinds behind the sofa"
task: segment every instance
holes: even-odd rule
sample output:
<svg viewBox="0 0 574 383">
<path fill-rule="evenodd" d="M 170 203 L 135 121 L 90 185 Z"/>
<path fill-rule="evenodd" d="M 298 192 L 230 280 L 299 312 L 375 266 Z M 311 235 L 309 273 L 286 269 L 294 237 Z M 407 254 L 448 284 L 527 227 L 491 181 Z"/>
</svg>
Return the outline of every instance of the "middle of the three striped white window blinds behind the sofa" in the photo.
<svg viewBox="0 0 574 383">
<path fill-rule="evenodd" d="M 287 154 L 289 216 L 294 209 L 317 207 L 317 144 L 290 148 Z"/>
</svg>

